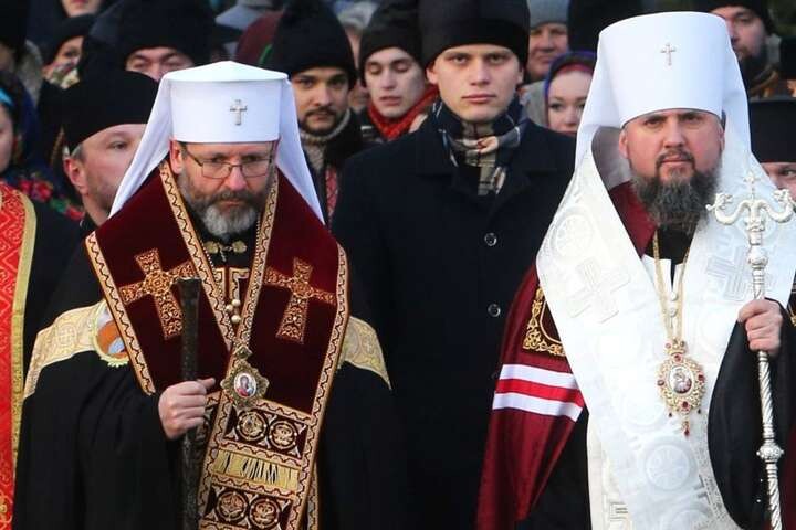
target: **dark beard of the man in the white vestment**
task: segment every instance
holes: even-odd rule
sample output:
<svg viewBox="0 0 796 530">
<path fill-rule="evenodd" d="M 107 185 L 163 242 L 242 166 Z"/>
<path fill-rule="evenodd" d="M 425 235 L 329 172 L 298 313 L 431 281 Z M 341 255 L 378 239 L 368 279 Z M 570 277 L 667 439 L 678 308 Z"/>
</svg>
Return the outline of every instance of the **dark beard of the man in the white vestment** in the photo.
<svg viewBox="0 0 796 530">
<path fill-rule="evenodd" d="M 633 171 L 631 183 L 659 227 L 692 234 L 696 223 L 706 214 L 705 204 L 712 203 L 715 198 L 718 176 L 719 166 L 706 172 L 694 170 L 689 181 L 663 186 L 659 172 L 653 179 L 645 179 Z"/>
</svg>

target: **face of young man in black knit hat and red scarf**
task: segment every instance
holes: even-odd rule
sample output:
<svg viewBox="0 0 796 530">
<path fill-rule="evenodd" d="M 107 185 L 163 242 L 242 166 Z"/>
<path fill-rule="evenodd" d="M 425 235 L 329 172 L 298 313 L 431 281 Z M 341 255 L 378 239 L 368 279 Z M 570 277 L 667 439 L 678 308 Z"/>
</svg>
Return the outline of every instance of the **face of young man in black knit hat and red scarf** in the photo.
<svg viewBox="0 0 796 530">
<path fill-rule="evenodd" d="M 371 54 L 365 62 L 365 82 L 376 110 L 386 118 L 407 114 L 426 91 L 422 68 L 399 47 Z"/>
</svg>

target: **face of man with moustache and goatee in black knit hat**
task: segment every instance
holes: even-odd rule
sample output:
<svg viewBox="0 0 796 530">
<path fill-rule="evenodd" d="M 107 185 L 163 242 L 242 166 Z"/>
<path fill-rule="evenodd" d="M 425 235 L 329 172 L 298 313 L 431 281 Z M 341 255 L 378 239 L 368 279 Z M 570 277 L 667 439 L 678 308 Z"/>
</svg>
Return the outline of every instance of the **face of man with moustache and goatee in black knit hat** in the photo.
<svg viewBox="0 0 796 530">
<path fill-rule="evenodd" d="M 343 68 L 323 66 L 291 77 L 298 125 L 314 135 L 331 132 L 348 109 L 348 76 Z"/>
</svg>

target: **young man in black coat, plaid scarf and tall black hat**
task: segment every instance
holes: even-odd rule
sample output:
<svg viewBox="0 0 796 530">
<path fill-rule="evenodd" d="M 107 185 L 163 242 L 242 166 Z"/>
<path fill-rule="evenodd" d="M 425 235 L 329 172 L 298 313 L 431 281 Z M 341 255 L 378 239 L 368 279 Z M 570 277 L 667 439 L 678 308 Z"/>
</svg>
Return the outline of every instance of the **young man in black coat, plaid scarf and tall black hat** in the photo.
<svg viewBox="0 0 796 530">
<path fill-rule="evenodd" d="M 441 103 L 348 161 L 333 223 L 385 347 L 419 529 L 473 527 L 504 316 L 574 156 L 515 98 L 525 2 L 455 3 L 420 4 Z"/>
</svg>

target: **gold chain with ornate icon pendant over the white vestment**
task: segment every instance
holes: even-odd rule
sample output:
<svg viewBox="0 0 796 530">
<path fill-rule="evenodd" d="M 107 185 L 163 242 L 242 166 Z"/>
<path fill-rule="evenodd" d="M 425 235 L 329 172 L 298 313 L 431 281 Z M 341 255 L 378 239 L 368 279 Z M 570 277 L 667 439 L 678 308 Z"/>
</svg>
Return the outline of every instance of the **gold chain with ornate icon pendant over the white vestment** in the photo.
<svg viewBox="0 0 796 530">
<path fill-rule="evenodd" d="M 704 370 L 693 359 L 688 357 L 688 347 L 682 338 L 683 322 L 683 278 L 685 277 L 685 264 L 689 253 L 683 257 L 680 277 L 674 290 L 674 308 L 669 307 L 667 301 L 667 289 L 663 283 L 663 269 L 660 263 L 660 246 L 658 244 L 658 231 L 652 239 L 652 254 L 656 265 L 656 290 L 660 301 L 661 317 L 667 332 L 666 352 L 667 359 L 658 369 L 658 389 L 661 398 L 669 410 L 669 417 L 678 414 L 682 418 L 683 434 L 691 433 L 689 415 L 695 410 L 701 413 L 702 398 L 705 392 Z M 677 318 L 677 329 L 674 319 Z"/>
</svg>

